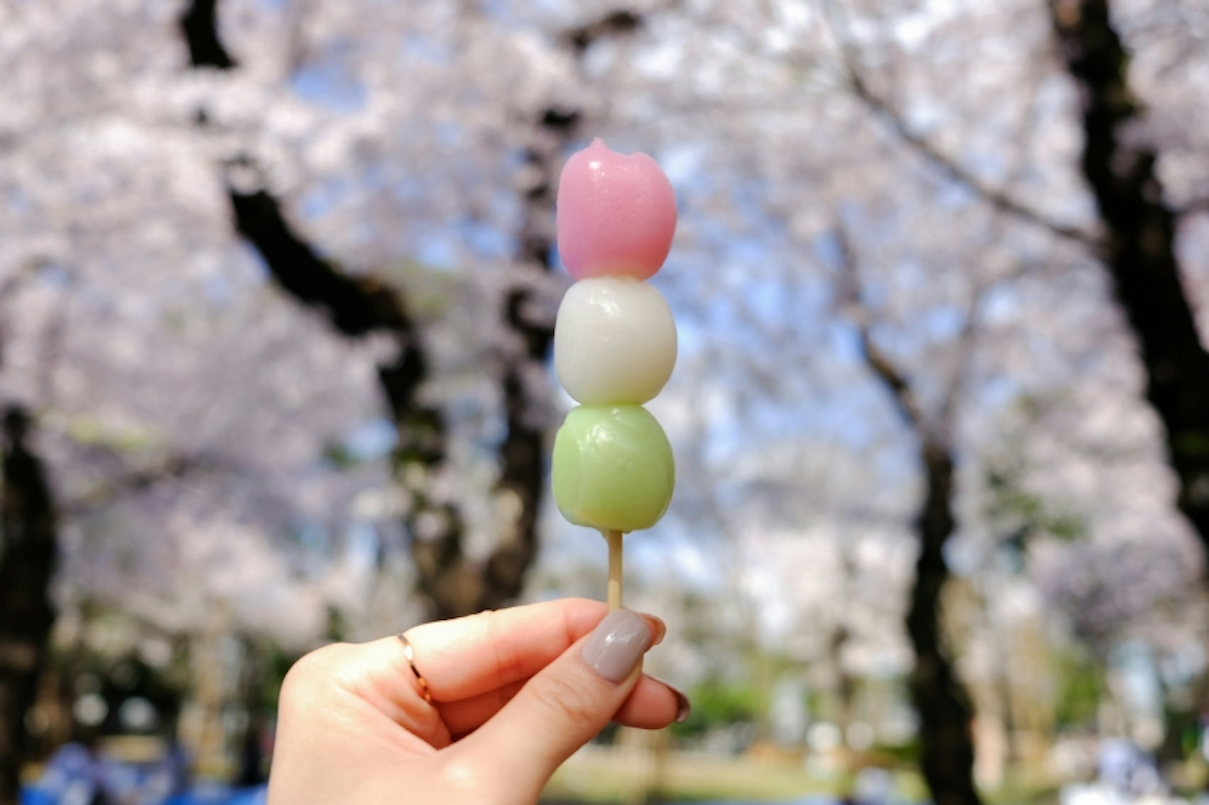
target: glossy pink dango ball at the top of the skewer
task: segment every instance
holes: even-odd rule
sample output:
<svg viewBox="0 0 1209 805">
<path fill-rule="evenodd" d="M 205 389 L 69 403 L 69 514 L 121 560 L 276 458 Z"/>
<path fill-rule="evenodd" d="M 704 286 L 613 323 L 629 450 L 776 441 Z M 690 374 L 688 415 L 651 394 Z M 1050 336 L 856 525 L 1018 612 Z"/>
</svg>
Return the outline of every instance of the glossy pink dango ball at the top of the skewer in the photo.
<svg viewBox="0 0 1209 805">
<path fill-rule="evenodd" d="M 597 138 L 562 169 L 557 221 L 559 254 L 575 279 L 649 279 L 672 248 L 676 196 L 654 160 Z"/>
</svg>

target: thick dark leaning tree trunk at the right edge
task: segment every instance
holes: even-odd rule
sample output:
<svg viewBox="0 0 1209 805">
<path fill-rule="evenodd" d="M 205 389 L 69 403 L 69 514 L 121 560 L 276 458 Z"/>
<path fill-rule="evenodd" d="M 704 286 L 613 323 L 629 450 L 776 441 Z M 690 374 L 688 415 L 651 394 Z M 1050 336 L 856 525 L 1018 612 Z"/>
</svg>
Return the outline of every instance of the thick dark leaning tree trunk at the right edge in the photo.
<svg viewBox="0 0 1209 805">
<path fill-rule="evenodd" d="M 1180 279 L 1176 215 L 1163 202 L 1157 155 L 1124 131 L 1140 117 L 1129 56 L 1107 0 L 1051 0 L 1049 8 L 1083 99 L 1082 170 L 1105 231 L 1103 257 L 1138 337 L 1146 399 L 1167 429 L 1180 509 L 1209 545 L 1209 354 Z"/>
</svg>

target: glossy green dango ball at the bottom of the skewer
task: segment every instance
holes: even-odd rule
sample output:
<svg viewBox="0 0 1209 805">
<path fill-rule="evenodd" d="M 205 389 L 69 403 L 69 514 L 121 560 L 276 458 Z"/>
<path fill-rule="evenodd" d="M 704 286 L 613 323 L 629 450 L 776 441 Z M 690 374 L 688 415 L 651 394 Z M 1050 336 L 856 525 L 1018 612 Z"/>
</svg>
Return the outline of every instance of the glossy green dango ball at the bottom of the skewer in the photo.
<svg viewBox="0 0 1209 805">
<path fill-rule="evenodd" d="M 667 511 L 672 447 L 641 405 L 572 409 L 554 439 L 554 499 L 577 526 L 630 532 Z"/>
</svg>

